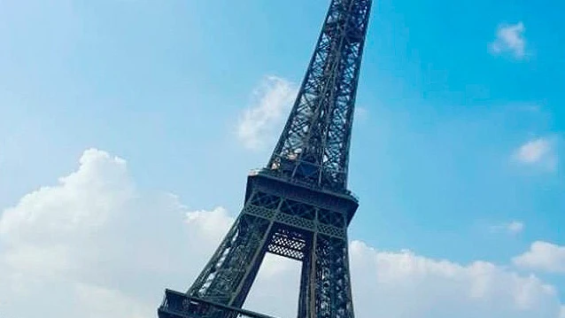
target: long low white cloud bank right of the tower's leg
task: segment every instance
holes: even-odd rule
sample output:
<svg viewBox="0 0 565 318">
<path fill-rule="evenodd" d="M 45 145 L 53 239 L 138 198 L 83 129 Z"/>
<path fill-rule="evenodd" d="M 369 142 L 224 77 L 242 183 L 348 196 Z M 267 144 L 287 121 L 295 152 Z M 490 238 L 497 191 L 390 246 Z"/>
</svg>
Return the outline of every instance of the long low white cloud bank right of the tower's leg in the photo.
<svg viewBox="0 0 565 318">
<path fill-rule="evenodd" d="M 354 297 L 360 316 L 557 317 L 553 287 L 489 262 L 468 266 L 412 252 L 378 252 L 352 242 Z M 375 306 L 375 301 L 387 306 Z"/>
</svg>

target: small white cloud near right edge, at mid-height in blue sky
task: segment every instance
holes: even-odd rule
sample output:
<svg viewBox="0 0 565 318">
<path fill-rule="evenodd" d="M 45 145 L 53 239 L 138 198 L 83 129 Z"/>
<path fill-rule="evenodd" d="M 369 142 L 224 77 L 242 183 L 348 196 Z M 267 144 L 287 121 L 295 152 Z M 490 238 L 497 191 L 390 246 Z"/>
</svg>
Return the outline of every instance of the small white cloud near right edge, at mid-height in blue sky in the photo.
<svg viewBox="0 0 565 318">
<path fill-rule="evenodd" d="M 555 141 L 550 137 L 530 140 L 515 151 L 513 158 L 522 165 L 554 171 L 557 168 Z"/>
</svg>

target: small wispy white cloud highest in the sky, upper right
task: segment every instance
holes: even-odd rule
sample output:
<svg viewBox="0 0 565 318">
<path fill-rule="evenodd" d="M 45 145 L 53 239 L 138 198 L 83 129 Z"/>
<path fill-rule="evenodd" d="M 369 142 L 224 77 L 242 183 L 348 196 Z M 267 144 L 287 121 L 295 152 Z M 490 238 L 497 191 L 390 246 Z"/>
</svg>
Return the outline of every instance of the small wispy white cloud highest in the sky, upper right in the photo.
<svg viewBox="0 0 565 318">
<path fill-rule="evenodd" d="M 500 25 L 496 31 L 496 39 L 490 44 L 493 54 L 510 54 L 514 58 L 522 59 L 526 56 L 526 40 L 523 33 L 525 27 L 522 22 L 514 25 Z"/>
</svg>

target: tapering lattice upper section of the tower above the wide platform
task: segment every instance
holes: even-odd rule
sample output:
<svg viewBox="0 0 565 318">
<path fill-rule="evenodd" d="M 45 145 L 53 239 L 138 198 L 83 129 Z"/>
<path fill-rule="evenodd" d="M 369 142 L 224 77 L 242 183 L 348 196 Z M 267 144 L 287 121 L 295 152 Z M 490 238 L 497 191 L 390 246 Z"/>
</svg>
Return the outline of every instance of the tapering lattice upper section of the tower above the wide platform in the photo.
<svg viewBox="0 0 565 318">
<path fill-rule="evenodd" d="M 266 172 L 344 192 L 361 56 L 372 0 L 332 0 Z"/>
</svg>

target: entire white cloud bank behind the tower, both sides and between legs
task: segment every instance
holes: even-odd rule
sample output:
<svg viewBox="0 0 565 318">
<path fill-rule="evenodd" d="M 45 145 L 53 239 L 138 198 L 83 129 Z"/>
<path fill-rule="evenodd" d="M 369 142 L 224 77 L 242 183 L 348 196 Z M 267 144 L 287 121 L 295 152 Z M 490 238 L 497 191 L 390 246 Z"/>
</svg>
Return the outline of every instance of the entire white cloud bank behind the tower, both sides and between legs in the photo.
<svg viewBox="0 0 565 318">
<path fill-rule="evenodd" d="M 164 288 L 185 290 L 232 222 L 221 207 L 194 212 L 170 194 L 138 190 L 123 159 L 85 151 L 76 172 L 4 210 L 0 313 L 155 317 Z M 350 257 L 359 317 L 560 316 L 552 286 L 488 262 L 461 265 L 358 241 Z M 246 307 L 295 316 L 298 268 L 267 258 Z"/>
</svg>

